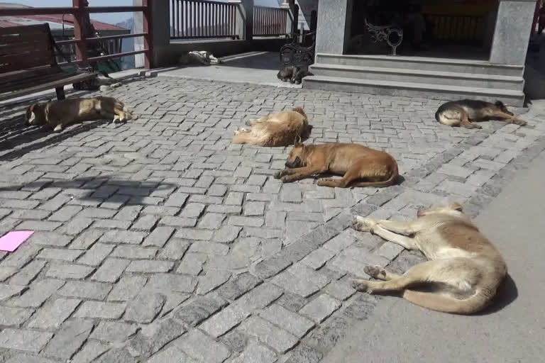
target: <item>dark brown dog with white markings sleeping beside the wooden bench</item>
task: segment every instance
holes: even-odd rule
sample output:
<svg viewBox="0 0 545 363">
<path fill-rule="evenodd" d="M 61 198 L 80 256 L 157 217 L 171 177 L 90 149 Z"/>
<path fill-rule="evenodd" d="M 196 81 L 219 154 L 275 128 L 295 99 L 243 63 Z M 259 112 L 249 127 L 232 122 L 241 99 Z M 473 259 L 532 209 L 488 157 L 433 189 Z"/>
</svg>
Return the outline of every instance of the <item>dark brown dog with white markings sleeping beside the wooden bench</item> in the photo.
<svg viewBox="0 0 545 363">
<path fill-rule="evenodd" d="M 26 109 L 29 125 L 50 125 L 55 132 L 65 126 L 81 121 L 109 120 L 127 121 L 133 116 L 125 105 L 112 97 L 92 99 L 63 99 L 46 104 L 33 104 Z"/>
</svg>

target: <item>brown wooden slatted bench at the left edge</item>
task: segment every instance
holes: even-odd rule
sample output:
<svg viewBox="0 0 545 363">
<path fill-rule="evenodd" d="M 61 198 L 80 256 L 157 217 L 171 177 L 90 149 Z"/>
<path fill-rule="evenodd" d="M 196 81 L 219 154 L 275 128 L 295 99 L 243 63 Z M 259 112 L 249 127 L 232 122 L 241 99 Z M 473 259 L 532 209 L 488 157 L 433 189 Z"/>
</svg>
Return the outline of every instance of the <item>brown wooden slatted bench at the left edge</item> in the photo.
<svg viewBox="0 0 545 363">
<path fill-rule="evenodd" d="M 65 99 L 66 84 L 97 77 L 62 70 L 55 48 L 48 23 L 0 28 L 0 101 L 53 88 Z"/>
</svg>

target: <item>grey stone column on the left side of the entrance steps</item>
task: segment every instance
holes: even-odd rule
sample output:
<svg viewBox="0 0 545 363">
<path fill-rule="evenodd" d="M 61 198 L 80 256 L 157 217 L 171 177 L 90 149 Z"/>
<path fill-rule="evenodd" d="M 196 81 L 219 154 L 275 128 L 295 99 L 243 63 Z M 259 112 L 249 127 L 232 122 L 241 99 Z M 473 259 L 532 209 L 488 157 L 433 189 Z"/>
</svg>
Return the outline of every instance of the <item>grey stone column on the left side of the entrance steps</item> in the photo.
<svg viewBox="0 0 545 363">
<path fill-rule="evenodd" d="M 353 0 L 318 1 L 316 53 L 341 55 L 350 40 Z"/>
</svg>

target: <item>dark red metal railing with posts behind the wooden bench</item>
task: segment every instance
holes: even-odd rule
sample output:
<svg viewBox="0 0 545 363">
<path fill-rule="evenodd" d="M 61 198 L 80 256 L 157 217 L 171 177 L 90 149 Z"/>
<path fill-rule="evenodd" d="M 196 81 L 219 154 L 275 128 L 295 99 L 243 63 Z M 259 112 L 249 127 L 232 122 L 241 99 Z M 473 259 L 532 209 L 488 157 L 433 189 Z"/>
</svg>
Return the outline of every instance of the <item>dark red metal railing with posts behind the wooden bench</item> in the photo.
<svg viewBox="0 0 545 363">
<path fill-rule="evenodd" d="M 43 7 L 43 8 L 4 8 L 2 9 L 2 16 L 26 16 L 26 15 L 48 15 L 48 14 L 72 14 L 74 16 L 74 39 L 61 40 L 57 43 L 61 49 L 66 49 L 68 45 L 75 48 L 75 60 L 76 64 L 88 64 L 89 62 L 100 62 L 104 60 L 110 60 L 112 58 L 121 58 L 128 55 L 144 54 L 145 67 L 150 69 L 152 64 L 153 53 L 153 40 L 152 32 L 153 27 L 151 25 L 151 14 L 148 3 L 150 0 L 142 0 L 142 6 L 86 6 L 85 0 L 72 0 L 72 7 Z M 153 0 L 152 0 L 153 1 Z M 123 35 L 110 35 L 107 37 L 98 38 L 86 38 L 83 30 L 84 17 L 89 17 L 89 13 L 143 13 L 143 33 L 136 34 L 123 34 Z M 86 45 L 93 42 L 100 42 L 102 40 L 114 40 L 121 38 L 144 38 L 144 49 L 134 50 L 132 52 L 119 52 L 109 55 L 100 55 L 97 57 L 88 57 L 86 51 Z M 60 63 L 59 65 L 66 65 L 68 62 Z"/>
</svg>

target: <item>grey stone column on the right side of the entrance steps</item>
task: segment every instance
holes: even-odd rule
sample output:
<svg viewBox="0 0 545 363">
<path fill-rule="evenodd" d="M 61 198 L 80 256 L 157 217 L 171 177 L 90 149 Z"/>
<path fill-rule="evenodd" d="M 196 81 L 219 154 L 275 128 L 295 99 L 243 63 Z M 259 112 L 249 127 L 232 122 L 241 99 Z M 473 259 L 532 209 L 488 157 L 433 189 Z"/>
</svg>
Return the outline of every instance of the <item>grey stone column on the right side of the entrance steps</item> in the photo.
<svg viewBox="0 0 545 363">
<path fill-rule="evenodd" d="M 500 0 L 490 62 L 524 65 L 536 0 Z"/>
</svg>

